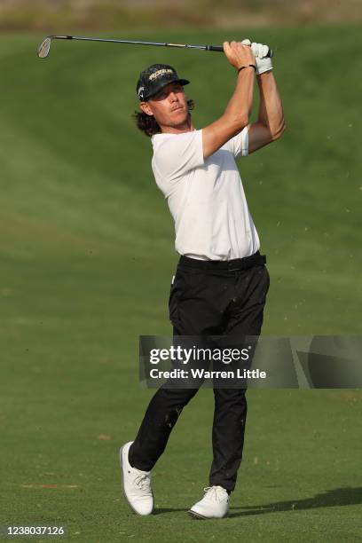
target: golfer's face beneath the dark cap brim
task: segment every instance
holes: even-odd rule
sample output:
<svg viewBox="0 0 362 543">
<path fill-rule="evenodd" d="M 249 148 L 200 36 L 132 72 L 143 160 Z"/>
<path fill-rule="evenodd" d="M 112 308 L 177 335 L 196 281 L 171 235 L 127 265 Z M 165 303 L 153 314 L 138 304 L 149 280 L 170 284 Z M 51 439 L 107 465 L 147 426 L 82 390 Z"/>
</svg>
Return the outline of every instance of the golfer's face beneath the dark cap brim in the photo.
<svg viewBox="0 0 362 543">
<path fill-rule="evenodd" d="M 188 119 L 187 98 L 180 83 L 169 83 L 140 107 L 147 115 L 153 115 L 161 129 L 177 128 Z"/>
</svg>

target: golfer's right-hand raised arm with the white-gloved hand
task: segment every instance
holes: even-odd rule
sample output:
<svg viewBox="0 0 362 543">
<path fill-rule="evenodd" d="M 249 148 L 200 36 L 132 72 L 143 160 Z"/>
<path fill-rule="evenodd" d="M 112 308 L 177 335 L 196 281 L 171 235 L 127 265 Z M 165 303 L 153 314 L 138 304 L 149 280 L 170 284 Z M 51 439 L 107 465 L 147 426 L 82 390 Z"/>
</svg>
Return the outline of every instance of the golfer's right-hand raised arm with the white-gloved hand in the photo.
<svg viewBox="0 0 362 543">
<path fill-rule="evenodd" d="M 248 127 L 248 153 L 254 153 L 257 149 L 267 146 L 280 138 L 286 130 L 283 106 L 272 73 L 271 59 L 258 59 L 257 46 L 259 46 L 260 56 L 262 56 L 262 48 L 266 47 L 259 43 L 252 44 L 252 49 L 256 48 L 256 67 L 262 73 L 256 75 L 260 93 L 259 114 L 257 122 Z"/>
</svg>

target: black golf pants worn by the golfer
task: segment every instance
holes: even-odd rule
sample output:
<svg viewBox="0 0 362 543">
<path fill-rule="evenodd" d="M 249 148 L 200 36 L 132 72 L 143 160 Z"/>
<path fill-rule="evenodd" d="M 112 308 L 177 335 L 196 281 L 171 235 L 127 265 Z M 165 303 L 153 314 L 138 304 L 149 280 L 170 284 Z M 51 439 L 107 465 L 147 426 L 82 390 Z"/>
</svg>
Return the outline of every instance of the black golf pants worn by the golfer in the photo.
<svg viewBox="0 0 362 543">
<path fill-rule="evenodd" d="M 205 262 L 181 256 L 169 295 L 174 335 L 260 335 L 269 289 L 265 257 Z M 130 446 L 130 465 L 150 471 L 165 450 L 178 416 L 198 389 L 157 390 Z M 232 492 L 244 445 L 245 389 L 214 388 L 213 462 L 209 484 Z M 197 431 L 197 429 L 194 429 Z"/>
</svg>

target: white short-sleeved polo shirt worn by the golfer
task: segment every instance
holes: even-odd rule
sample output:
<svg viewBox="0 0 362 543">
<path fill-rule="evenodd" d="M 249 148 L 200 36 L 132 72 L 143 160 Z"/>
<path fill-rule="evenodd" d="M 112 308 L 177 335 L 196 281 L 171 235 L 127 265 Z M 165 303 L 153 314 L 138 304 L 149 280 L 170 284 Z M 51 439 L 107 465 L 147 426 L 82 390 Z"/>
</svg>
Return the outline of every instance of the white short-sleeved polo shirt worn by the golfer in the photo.
<svg viewBox="0 0 362 543">
<path fill-rule="evenodd" d="M 248 154 L 245 128 L 203 158 L 202 130 L 152 137 L 152 169 L 175 221 L 175 248 L 201 260 L 232 260 L 260 247 L 248 210 L 238 156 Z"/>
</svg>

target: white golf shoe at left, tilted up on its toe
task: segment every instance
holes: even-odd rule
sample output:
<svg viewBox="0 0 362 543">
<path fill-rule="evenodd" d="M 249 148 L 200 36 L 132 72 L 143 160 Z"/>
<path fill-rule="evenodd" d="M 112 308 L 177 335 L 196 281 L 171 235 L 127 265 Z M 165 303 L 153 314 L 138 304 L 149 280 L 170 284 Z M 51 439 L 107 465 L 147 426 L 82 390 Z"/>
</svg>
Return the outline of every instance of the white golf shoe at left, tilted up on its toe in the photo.
<svg viewBox="0 0 362 543">
<path fill-rule="evenodd" d="M 120 450 L 123 493 L 130 507 L 138 515 L 150 515 L 153 510 L 151 471 L 132 468 L 129 450 L 133 441 L 123 445 Z"/>
</svg>

